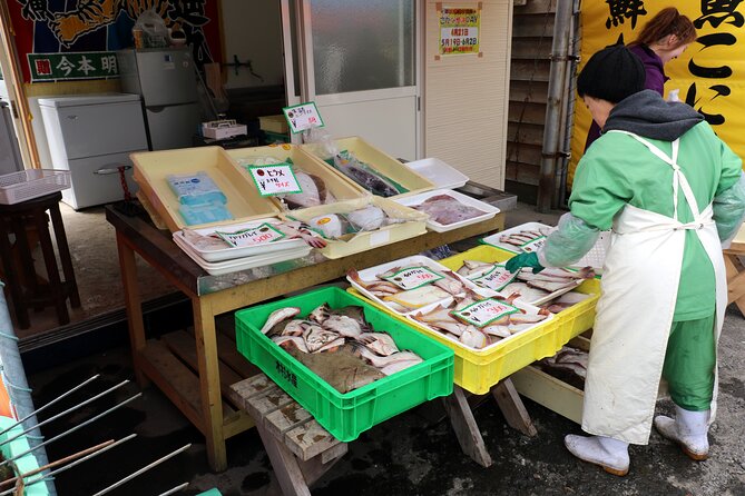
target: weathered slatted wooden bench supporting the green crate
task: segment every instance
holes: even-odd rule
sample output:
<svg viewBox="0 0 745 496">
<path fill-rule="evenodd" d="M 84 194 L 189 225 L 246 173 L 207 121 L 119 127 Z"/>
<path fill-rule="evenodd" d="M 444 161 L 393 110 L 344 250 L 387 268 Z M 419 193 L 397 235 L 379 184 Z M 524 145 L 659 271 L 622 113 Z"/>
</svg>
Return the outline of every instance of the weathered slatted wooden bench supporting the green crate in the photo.
<svg viewBox="0 0 745 496">
<path fill-rule="evenodd" d="M 264 374 L 243 379 L 231 389 L 231 398 L 256 423 L 282 493 L 310 496 L 308 486 L 346 453 L 346 443 L 321 427 Z"/>
</svg>

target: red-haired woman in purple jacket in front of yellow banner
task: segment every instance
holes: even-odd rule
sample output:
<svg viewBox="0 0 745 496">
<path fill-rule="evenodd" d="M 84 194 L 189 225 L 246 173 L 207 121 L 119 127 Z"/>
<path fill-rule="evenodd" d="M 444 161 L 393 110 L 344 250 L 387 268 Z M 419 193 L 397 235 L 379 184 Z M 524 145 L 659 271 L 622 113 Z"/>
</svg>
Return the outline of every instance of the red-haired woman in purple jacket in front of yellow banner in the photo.
<svg viewBox="0 0 745 496">
<path fill-rule="evenodd" d="M 694 41 L 694 23 L 675 7 L 667 7 L 649 19 L 638 38 L 628 43 L 629 50 L 644 62 L 645 89 L 655 90 L 664 98 L 665 81 L 670 79 L 665 76 L 665 65 L 679 57 Z M 592 121 L 585 150 L 599 137 L 600 128 Z"/>
</svg>

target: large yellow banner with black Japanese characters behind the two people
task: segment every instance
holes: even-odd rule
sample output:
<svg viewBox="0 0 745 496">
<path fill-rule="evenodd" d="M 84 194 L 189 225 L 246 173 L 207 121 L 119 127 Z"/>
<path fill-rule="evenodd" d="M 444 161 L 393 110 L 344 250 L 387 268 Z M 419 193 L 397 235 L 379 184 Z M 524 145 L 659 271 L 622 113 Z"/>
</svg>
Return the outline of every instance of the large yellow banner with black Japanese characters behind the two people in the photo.
<svg viewBox="0 0 745 496">
<path fill-rule="evenodd" d="M 585 0 L 581 3 L 582 42 L 580 57 L 589 60 L 596 51 L 636 39 L 648 19 L 668 6 L 675 6 L 696 27 L 698 39 L 677 59 L 665 65 L 670 90 L 704 115 L 716 133 L 735 153 L 745 157 L 745 16 L 739 1 L 678 0 L 676 2 Z M 743 8 L 745 11 L 745 8 Z M 582 63 L 578 69 L 582 68 Z M 575 106 L 571 160 L 567 185 L 571 187 L 577 162 L 585 152 L 587 131 L 592 118 L 579 97 Z"/>
</svg>

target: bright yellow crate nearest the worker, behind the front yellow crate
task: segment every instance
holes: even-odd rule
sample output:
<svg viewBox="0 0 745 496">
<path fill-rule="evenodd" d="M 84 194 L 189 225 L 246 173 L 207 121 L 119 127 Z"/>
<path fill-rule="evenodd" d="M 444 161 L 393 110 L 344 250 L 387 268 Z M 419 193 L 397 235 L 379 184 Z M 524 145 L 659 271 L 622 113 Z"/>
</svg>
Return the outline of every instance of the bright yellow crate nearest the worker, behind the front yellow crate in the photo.
<svg viewBox="0 0 745 496">
<path fill-rule="evenodd" d="M 504 261 L 512 257 L 514 257 L 514 254 L 511 251 L 490 245 L 481 245 L 462 254 L 442 259 L 440 264 L 455 271 L 461 268 L 463 260 L 494 262 Z M 595 323 L 595 307 L 600 298 L 600 279 L 588 279 L 574 290 L 592 296 L 557 314 L 556 318 L 559 320 L 559 330 L 557 331 L 556 340 L 559 345 L 556 351 L 569 341 L 569 339 L 591 328 Z"/>
</svg>

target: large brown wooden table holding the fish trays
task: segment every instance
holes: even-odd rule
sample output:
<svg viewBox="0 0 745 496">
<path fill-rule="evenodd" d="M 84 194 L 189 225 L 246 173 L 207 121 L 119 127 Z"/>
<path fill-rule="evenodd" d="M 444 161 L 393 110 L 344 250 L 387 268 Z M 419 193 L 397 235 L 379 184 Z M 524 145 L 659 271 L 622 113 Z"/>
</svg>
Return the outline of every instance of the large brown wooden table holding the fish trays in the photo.
<svg viewBox="0 0 745 496">
<path fill-rule="evenodd" d="M 205 435 L 209 465 L 218 472 L 227 468 L 225 439 L 246 430 L 253 423 L 243 409 L 233 409 L 223 401 L 220 388 L 227 397 L 231 383 L 220 381 L 216 316 L 337 279 L 352 267 L 372 267 L 504 227 L 504 214 L 500 212 L 471 226 L 448 232 L 428 231 L 340 259 L 327 260 L 312 254 L 295 262 L 210 276 L 174 244 L 168 231 L 155 228 L 149 220 L 127 217 L 111 207 L 106 208 L 106 219 L 116 229 L 137 380 L 141 386 L 153 380 Z M 135 254 L 190 298 L 196 374 L 183 366 L 169 347 L 146 338 Z"/>
</svg>

